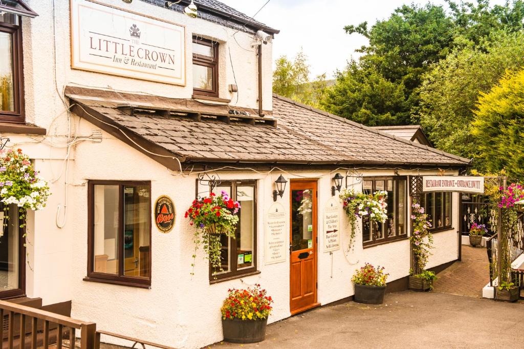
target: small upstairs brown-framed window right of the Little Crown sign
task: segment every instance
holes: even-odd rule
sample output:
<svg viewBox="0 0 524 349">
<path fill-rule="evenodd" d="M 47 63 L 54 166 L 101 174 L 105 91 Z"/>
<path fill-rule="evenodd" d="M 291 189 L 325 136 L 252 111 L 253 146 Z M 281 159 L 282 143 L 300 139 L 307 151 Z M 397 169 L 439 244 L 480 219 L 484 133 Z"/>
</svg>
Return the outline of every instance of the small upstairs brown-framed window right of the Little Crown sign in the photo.
<svg viewBox="0 0 524 349">
<path fill-rule="evenodd" d="M 219 44 L 193 37 L 193 94 L 219 97 Z"/>
</svg>

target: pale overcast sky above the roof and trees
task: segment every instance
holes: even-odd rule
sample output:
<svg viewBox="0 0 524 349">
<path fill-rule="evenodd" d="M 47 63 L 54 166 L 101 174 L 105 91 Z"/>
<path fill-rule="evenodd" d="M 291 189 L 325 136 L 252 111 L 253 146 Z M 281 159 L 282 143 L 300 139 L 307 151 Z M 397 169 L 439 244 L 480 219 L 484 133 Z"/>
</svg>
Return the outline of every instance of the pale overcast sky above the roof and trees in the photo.
<svg viewBox="0 0 524 349">
<path fill-rule="evenodd" d="M 220 1 L 253 16 L 267 0 Z M 311 65 L 311 78 L 323 72 L 331 77 L 336 69 L 344 69 L 348 59 L 357 58 L 355 49 L 367 43 L 361 35 L 345 34 L 344 26 L 365 20 L 370 26 L 377 19 L 389 17 L 395 8 L 411 2 L 427 3 L 419 0 L 270 0 L 255 18 L 280 30 L 273 44 L 274 59 L 281 55 L 292 58 L 302 47 Z M 443 0 L 432 2 L 445 4 Z M 490 2 L 504 4 L 506 0 Z"/>
</svg>

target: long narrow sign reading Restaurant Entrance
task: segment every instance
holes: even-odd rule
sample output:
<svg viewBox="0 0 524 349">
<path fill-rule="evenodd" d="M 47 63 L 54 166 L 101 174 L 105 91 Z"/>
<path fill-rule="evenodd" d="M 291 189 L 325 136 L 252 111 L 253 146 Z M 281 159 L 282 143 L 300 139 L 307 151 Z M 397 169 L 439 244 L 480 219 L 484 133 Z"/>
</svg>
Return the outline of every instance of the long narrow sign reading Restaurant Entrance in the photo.
<svg viewBox="0 0 524 349">
<path fill-rule="evenodd" d="M 484 194 L 484 177 L 423 176 L 422 191 Z"/>
</svg>

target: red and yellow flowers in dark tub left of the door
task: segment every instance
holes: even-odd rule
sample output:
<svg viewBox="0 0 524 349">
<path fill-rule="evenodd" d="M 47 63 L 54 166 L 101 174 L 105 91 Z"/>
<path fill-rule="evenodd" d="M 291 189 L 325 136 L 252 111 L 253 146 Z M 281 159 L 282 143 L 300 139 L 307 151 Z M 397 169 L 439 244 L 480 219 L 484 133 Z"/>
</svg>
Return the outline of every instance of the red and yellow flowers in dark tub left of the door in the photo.
<svg viewBox="0 0 524 349">
<path fill-rule="evenodd" d="M 245 290 L 230 289 L 224 300 L 222 333 L 231 343 L 258 343 L 266 336 L 273 300 L 259 284 Z"/>
</svg>

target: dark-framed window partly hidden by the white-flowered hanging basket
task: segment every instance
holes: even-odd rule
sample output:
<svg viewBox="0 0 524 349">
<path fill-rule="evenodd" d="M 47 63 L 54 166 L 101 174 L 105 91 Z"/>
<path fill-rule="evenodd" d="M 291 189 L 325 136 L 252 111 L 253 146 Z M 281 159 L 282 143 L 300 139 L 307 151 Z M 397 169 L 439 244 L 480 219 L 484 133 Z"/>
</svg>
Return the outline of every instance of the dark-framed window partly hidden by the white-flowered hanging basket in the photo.
<svg viewBox="0 0 524 349">
<path fill-rule="evenodd" d="M 371 194 L 386 191 L 388 218 L 385 223 L 362 218 L 362 242 L 364 246 L 381 244 L 407 238 L 407 177 L 364 177 L 363 191 Z"/>
</svg>

